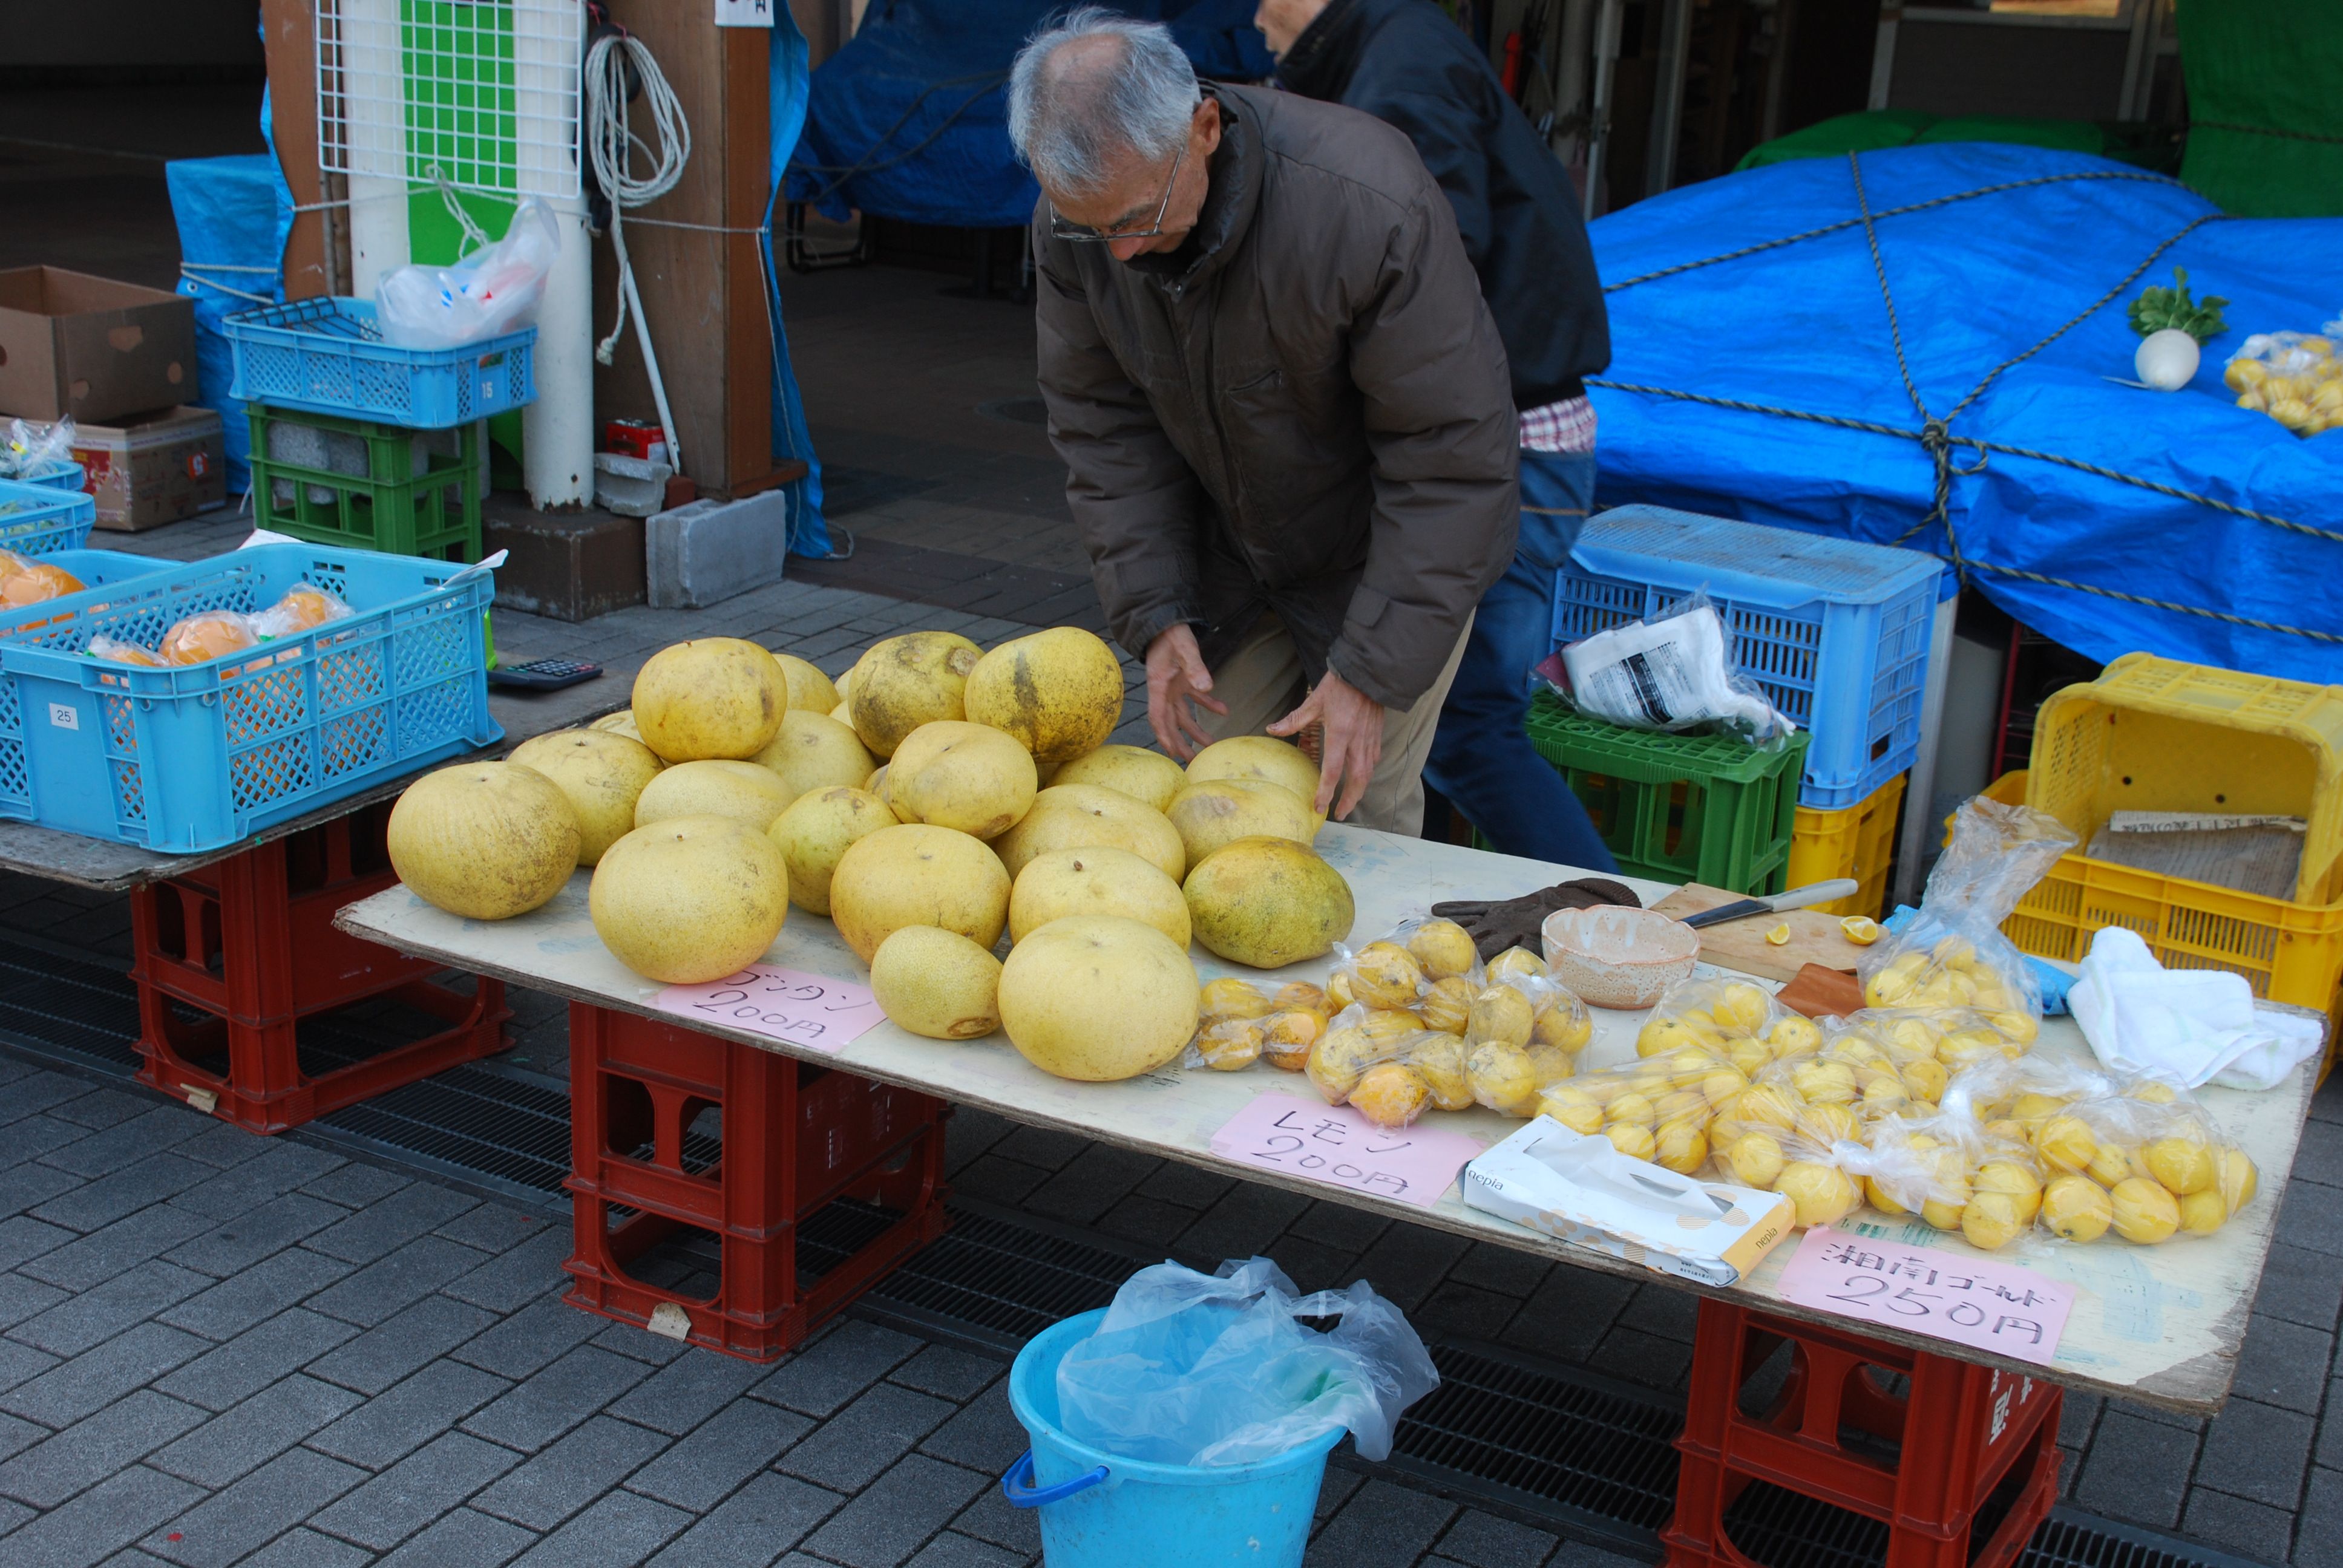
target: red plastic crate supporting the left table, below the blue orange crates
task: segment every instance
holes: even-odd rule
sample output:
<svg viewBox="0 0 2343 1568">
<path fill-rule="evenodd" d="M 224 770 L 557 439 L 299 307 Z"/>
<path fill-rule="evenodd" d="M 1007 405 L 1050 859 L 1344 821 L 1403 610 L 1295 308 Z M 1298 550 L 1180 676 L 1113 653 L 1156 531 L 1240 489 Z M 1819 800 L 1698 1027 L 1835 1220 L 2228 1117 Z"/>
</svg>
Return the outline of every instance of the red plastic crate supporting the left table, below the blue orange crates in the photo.
<svg viewBox="0 0 2343 1568">
<path fill-rule="evenodd" d="M 141 1083 L 251 1132 L 284 1132 L 504 1050 L 501 982 L 455 991 L 431 980 L 436 963 L 333 926 L 335 909 L 398 881 L 389 813 L 389 802 L 366 806 L 131 893 Z M 384 994 L 448 1027 L 302 1073 L 302 1020 Z"/>
</svg>

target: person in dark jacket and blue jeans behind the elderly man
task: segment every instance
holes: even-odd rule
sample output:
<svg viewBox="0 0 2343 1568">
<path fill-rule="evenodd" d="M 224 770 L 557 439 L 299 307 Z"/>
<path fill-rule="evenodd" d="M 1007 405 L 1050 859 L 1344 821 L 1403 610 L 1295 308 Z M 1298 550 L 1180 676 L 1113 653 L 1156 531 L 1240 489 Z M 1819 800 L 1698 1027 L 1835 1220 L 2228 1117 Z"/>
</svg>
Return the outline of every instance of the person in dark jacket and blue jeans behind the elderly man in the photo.
<svg viewBox="0 0 2343 1568">
<path fill-rule="evenodd" d="M 1553 572 L 1596 490 L 1584 377 L 1610 363 L 1577 192 L 1488 59 L 1429 0 L 1261 0 L 1254 21 L 1289 91 L 1366 110 L 1415 143 L 1455 209 L 1511 366 L 1521 541 L 1481 598 L 1425 776 L 1509 855 L 1617 870 L 1523 736 L 1530 670 L 1553 652 Z"/>
</svg>

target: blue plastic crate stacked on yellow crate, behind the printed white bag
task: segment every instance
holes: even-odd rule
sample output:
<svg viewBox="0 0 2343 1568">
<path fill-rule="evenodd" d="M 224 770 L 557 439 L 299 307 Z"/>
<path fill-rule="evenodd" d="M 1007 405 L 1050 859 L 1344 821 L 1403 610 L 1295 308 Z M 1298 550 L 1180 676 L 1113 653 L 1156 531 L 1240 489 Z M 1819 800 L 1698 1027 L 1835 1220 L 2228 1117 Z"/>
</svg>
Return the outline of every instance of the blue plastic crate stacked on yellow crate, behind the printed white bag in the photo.
<svg viewBox="0 0 2343 1568">
<path fill-rule="evenodd" d="M 1919 755 L 1928 635 L 1956 591 L 1935 555 L 1619 506 L 1586 520 L 1553 584 L 1553 642 L 1666 614 L 1706 591 L 1741 670 L 1813 734 L 1797 804 L 1860 804 Z"/>
</svg>

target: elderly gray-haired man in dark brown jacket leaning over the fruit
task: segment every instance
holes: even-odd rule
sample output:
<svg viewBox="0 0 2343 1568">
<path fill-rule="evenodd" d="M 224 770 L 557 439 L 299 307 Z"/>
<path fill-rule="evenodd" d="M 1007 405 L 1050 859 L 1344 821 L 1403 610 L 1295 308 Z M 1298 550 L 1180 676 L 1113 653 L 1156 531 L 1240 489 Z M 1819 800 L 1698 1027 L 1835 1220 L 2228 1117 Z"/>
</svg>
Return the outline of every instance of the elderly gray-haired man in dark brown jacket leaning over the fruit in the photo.
<svg viewBox="0 0 2343 1568">
<path fill-rule="evenodd" d="M 1504 347 L 1406 136 L 1197 84 L 1155 23 L 1017 56 L 1050 441 L 1148 722 L 1321 734 L 1319 811 L 1422 825 L 1481 593 L 1514 555 Z"/>
</svg>

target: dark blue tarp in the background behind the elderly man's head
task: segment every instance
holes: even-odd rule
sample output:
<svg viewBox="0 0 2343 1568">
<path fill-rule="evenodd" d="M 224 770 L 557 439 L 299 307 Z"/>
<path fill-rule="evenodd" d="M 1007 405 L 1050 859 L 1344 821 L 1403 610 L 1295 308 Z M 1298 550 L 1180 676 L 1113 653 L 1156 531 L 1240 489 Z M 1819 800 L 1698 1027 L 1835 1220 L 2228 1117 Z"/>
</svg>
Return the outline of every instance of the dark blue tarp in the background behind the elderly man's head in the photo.
<svg viewBox="0 0 2343 1568">
<path fill-rule="evenodd" d="M 790 202 L 907 223 L 1017 227 L 1040 192 L 1007 136 L 1003 82 L 1064 0 L 872 0 L 862 28 L 813 73 Z M 1202 75 L 1258 80 L 1275 63 L 1254 0 L 1127 0 L 1169 21 Z"/>
</svg>

